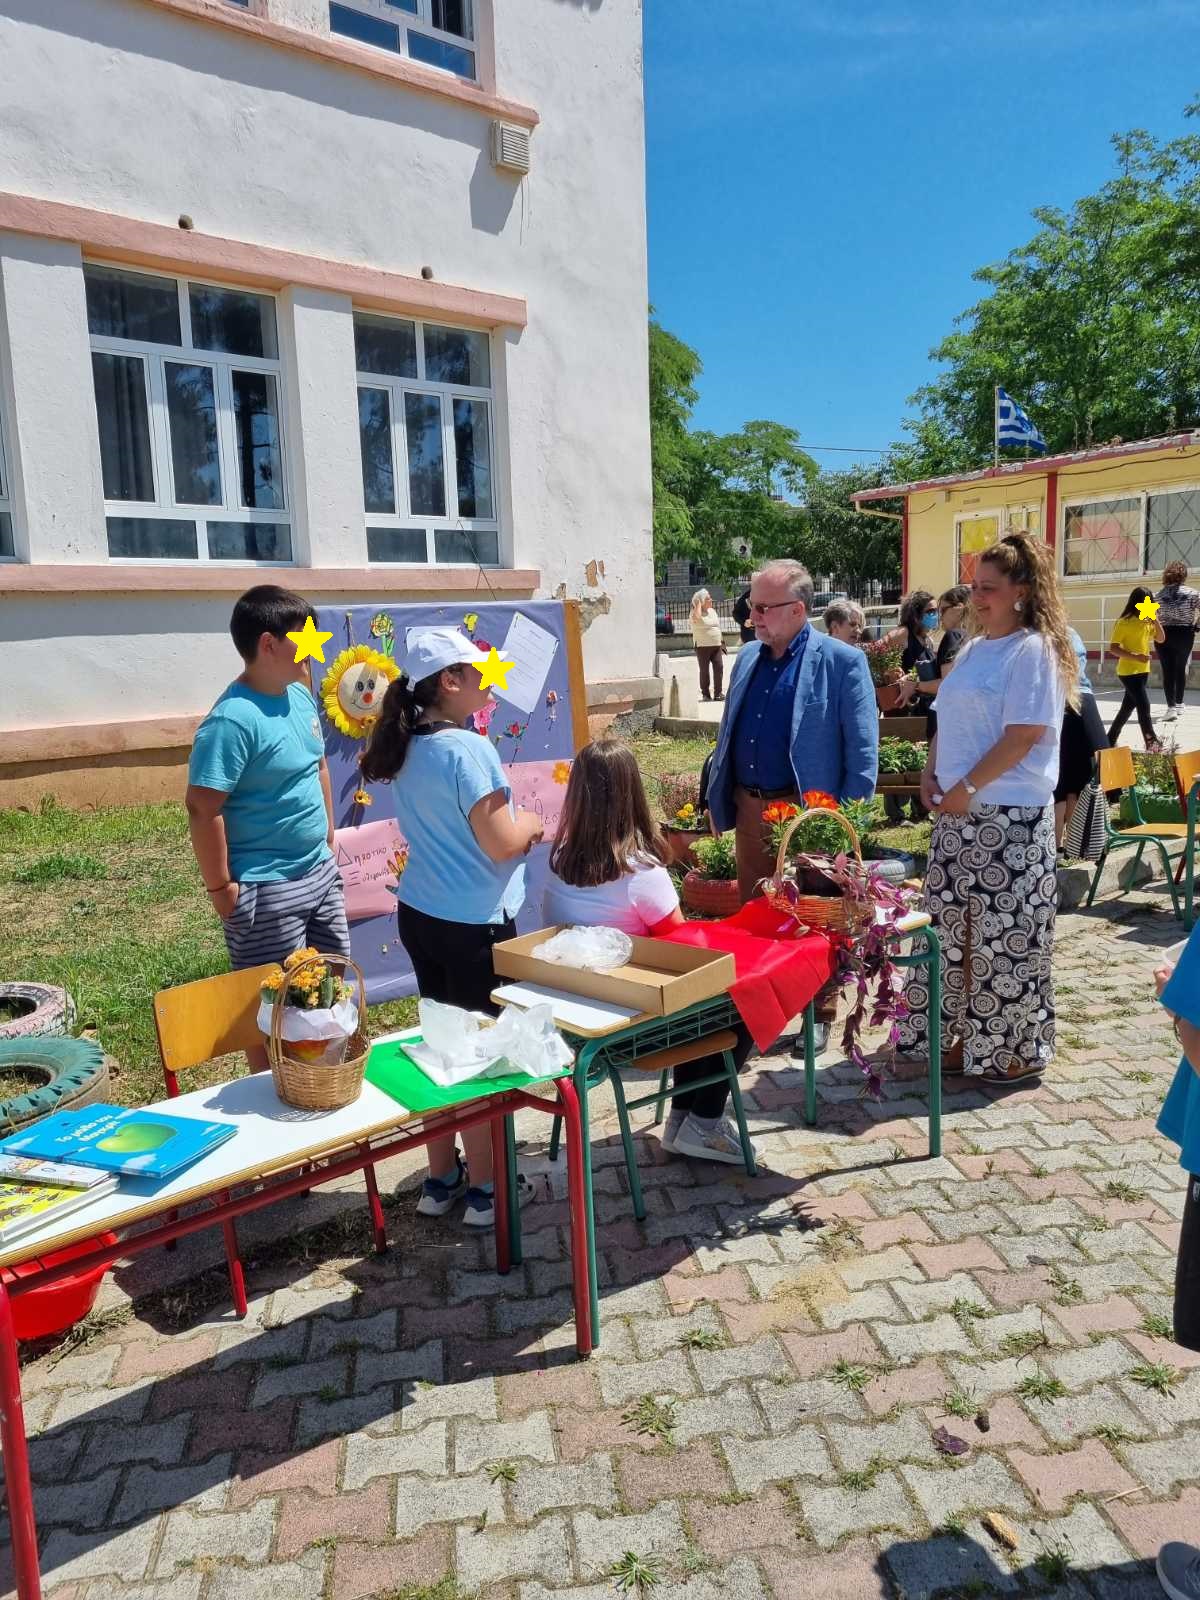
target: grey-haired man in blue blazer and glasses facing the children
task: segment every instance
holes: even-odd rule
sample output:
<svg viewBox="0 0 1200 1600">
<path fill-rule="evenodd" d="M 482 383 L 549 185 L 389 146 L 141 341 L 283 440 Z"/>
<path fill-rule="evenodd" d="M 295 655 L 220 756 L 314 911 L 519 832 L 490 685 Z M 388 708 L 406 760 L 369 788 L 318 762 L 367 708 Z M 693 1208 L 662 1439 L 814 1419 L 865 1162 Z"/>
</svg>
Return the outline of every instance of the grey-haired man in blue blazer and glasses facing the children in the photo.
<svg viewBox="0 0 1200 1600">
<path fill-rule="evenodd" d="M 733 664 L 707 806 L 733 827 L 738 888 L 750 899 L 774 870 L 763 808 L 806 789 L 867 800 L 878 773 L 878 710 L 867 658 L 808 621 L 813 579 L 800 562 L 768 562 L 750 579 L 755 643 Z M 824 997 L 822 997 L 824 998 Z M 818 1006 L 827 1021 L 829 1005 Z"/>
</svg>

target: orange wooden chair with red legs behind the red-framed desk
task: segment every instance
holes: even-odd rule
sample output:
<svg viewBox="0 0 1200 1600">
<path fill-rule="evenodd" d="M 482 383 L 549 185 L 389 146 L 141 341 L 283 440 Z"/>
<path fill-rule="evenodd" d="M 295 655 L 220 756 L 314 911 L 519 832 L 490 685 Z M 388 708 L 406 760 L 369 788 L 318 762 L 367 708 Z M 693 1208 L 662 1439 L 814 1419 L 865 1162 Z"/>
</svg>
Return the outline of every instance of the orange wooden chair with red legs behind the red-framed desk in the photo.
<svg viewBox="0 0 1200 1600">
<path fill-rule="evenodd" d="M 179 1072 L 214 1061 L 218 1056 L 262 1045 L 262 1034 L 258 1029 L 259 989 L 272 965 L 269 962 L 266 966 L 248 966 L 240 973 L 218 973 L 216 978 L 200 978 L 192 984 L 158 990 L 154 997 L 154 1029 L 158 1035 L 168 1099 L 179 1094 Z M 363 1178 L 374 1226 L 374 1248 L 382 1254 L 387 1248 L 387 1232 L 374 1166 L 365 1166 Z M 237 1227 L 234 1222 L 222 1222 L 221 1230 L 226 1237 L 234 1309 L 238 1317 L 245 1317 L 246 1283 Z"/>
</svg>

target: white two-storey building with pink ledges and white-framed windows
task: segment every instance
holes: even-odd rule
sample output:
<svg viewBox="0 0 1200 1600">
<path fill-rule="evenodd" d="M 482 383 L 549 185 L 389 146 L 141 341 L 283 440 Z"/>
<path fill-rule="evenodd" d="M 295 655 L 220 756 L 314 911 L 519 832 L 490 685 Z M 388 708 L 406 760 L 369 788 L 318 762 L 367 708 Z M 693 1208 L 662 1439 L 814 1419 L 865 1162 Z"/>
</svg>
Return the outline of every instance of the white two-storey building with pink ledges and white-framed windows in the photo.
<svg viewBox="0 0 1200 1600">
<path fill-rule="evenodd" d="M 638 0 L 0 0 L 0 805 L 182 792 L 254 582 L 653 709 Z"/>
</svg>

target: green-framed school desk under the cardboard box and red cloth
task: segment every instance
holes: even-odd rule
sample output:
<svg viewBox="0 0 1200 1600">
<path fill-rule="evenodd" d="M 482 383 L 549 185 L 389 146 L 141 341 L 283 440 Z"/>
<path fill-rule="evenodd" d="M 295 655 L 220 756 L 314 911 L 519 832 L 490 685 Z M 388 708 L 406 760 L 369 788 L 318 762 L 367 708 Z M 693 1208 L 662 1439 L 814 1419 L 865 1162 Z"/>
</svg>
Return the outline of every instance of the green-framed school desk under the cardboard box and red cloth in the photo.
<svg viewBox="0 0 1200 1600">
<path fill-rule="evenodd" d="M 909 955 L 894 955 L 893 960 L 898 966 L 928 966 L 930 970 L 930 1155 L 941 1155 L 942 1149 L 942 1075 L 941 1075 L 941 944 L 938 934 L 933 928 L 933 922 L 928 912 L 915 910 L 901 917 L 896 923 L 898 938 L 915 938 L 923 939 L 923 949 L 912 950 Z M 502 994 L 493 992 L 491 997 L 496 1005 L 512 1005 Z M 565 995 L 570 998 L 570 995 Z M 568 1038 L 571 1046 L 576 1050 L 574 1058 L 574 1088 L 579 1099 L 579 1123 L 582 1131 L 582 1160 L 584 1160 L 584 1195 L 586 1195 L 586 1232 L 587 1232 L 587 1288 L 590 1294 L 590 1333 L 592 1344 L 600 1344 L 600 1288 L 597 1278 L 597 1259 L 595 1259 L 595 1205 L 592 1194 L 592 1134 L 590 1134 L 590 1115 L 589 1115 L 589 1091 L 597 1088 L 600 1083 L 610 1082 L 613 1085 L 613 1096 L 618 1106 L 618 1118 L 621 1123 L 621 1142 L 624 1146 L 626 1155 L 626 1173 L 629 1174 L 629 1192 L 634 1202 L 634 1216 L 638 1221 L 645 1219 L 646 1206 L 642 1197 L 642 1181 L 637 1171 L 637 1157 L 634 1154 L 632 1133 L 629 1128 L 627 1112 L 637 1106 L 646 1106 L 656 1102 L 661 1117 L 662 1101 L 667 1094 L 666 1072 L 661 1075 L 656 1090 L 650 1094 L 640 1096 L 635 1101 L 626 1099 L 624 1085 L 621 1082 L 621 1074 L 627 1072 L 630 1067 L 637 1069 L 642 1066 L 645 1069 L 646 1058 L 658 1056 L 661 1051 L 677 1050 L 701 1040 L 709 1040 L 715 1034 L 722 1034 L 730 1029 L 738 1021 L 738 1008 L 728 994 L 715 995 L 710 1000 L 699 1000 L 696 1005 L 688 1006 L 683 1011 L 675 1011 L 670 1016 L 653 1016 L 650 1013 L 640 1013 L 638 1016 L 622 1018 L 619 1021 L 610 1022 L 606 1027 L 597 1027 L 594 1030 L 584 1029 L 579 1024 L 555 1016 L 555 1022 L 563 1037 Z M 813 1005 L 805 1010 L 805 1122 L 813 1126 L 816 1123 L 816 1051 L 813 1048 Z M 653 1066 L 651 1066 L 651 1070 Z M 730 1072 L 730 1064 L 720 1072 L 714 1072 L 707 1078 L 698 1078 L 690 1088 L 699 1088 L 707 1083 L 718 1083 L 728 1077 L 730 1094 L 733 1099 L 734 1115 L 738 1118 L 738 1131 L 742 1138 L 742 1146 L 747 1147 L 747 1131 L 746 1131 L 746 1115 L 741 1102 L 741 1090 L 738 1085 L 736 1074 Z M 558 1154 L 558 1125 L 550 1134 L 550 1158 L 555 1160 Z M 754 1176 L 754 1157 L 747 1162 L 747 1171 Z M 515 1195 L 515 1186 L 510 1186 L 510 1195 Z M 512 1203 L 512 1202 L 510 1202 Z"/>
</svg>

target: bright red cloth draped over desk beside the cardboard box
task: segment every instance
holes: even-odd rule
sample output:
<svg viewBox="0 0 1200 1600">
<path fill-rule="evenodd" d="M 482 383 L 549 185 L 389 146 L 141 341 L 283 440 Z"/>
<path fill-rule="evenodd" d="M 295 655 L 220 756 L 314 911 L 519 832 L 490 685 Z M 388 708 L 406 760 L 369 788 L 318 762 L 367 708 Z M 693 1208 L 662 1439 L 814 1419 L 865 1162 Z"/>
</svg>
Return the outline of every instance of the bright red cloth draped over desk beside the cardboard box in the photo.
<svg viewBox="0 0 1200 1600">
<path fill-rule="evenodd" d="M 790 917 L 752 899 L 722 922 L 688 922 L 661 934 L 674 944 L 728 950 L 736 979 L 730 998 L 758 1050 L 766 1050 L 818 989 L 834 976 L 834 947 L 824 933 L 798 933 Z"/>
</svg>

